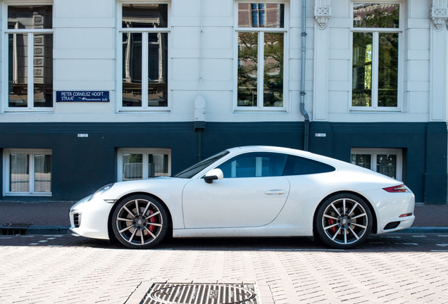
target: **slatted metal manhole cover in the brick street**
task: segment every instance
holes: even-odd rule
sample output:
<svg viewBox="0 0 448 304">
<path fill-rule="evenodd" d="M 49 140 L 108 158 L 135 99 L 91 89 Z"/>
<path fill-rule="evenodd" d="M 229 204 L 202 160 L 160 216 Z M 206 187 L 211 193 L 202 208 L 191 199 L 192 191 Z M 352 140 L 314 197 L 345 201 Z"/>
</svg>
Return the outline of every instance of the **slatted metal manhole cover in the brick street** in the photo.
<svg viewBox="0 0 448 304">
<path fill-rule="evenodd" d="M 143 304 L 259 304 L 253 284 L 155 283 Z"/>
</svg>

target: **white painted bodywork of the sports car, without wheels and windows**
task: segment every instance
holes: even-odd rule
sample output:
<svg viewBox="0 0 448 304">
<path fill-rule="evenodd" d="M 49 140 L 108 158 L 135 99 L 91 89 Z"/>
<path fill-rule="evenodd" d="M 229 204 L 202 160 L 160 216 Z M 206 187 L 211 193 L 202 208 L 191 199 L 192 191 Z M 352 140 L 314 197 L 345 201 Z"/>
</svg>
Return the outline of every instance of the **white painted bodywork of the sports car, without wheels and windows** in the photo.
<svg viewBox="0 0 448 304">
<path fill-rule="evenodd" d="M 353 193 L 368 201 L 376 220 L 373 233 L 411 227 L 414 197 L 411 191 L 390 193 L 383 188 L 397 182 L 371 170 L 340 160 L 290 148 L 249 146 L 228 149 L 230 153 L 204 167 L 190 179 L 159 177 L 118 182 L 104 194 L 89 197 L 70 209 L 71 232 L 95 239 L 109 239 L 108 225 L 114 203 L 132 194 L 149 194 L 166 205 L 174 237 L 213 236 L 313 236 L 318 205 L 338 192 Z M 204 175 L 241 153 L 273 152 L 301 156 L 335 167 L 332 172 L 280 177 L 218 179 L 204 182 Z M 80 227 L 73 223 L 81 215 Z M 404 214 L 412 214 L 399 217 Z M 399 222 L 394 229 L 386 224 Z"/>
</svg>

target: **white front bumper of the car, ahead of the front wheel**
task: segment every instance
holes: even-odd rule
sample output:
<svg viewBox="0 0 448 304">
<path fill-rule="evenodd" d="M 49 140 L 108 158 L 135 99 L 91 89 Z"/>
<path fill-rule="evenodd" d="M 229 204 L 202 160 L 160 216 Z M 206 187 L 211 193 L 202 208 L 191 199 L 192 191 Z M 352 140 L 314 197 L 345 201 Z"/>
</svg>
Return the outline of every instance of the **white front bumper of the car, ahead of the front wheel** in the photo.
<svg viewBox="0 0 448 304">
<path fill-rule="evenodd" d="M 113 203 L 106 203 L 101 198 L 89 201 L 89 198 L 83 198 L 70 208 L 69 233 L 92 239 L 109 239 L 108 218 Z"/>
</svg>

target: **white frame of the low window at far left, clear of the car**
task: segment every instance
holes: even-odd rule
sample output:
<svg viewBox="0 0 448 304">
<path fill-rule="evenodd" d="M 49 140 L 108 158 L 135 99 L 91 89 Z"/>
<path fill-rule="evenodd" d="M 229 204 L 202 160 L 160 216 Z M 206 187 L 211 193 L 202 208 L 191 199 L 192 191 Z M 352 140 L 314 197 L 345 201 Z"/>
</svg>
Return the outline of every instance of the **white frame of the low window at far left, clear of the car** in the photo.
<svg viewBox="0 0 448 304">
<path fill-rule="evenodd" d="M 29 157 L 29 163 L 28 163 L 28 172 L 30 172 L 29 177 L 29 191 L 23 191 L 23 192 L 15 192 L 9 190 L 9 184 L 11 182 L 10 180 L 10 172 L 11 172 L 11 159 L 9 156 L 11 154 L 25 154 Z M 51 149 L 21 149 L 21 148 L 7 148 L 4 149 L 3 153 L 3 163 L 4 163 L 4 170 L 3 170 L 3 195 L 4 196 L 51 196 L 52 193 L 50 192 L 36 192 L 35 189 L 35 158 L 34 156 L 36 154 L 44 154 L 44 155 L 52 155 Z M 53 180 L 51 180 L 51 183 Z"/>
</svg>

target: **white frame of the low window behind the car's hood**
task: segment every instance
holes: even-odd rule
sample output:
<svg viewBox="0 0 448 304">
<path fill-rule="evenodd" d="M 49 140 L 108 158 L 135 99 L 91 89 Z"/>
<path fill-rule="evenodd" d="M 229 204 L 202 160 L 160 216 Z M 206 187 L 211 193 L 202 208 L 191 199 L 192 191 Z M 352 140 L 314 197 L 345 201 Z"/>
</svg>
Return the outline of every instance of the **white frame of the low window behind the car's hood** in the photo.
<svg viewBox="0 0 448 304">
<path fill-rule="evenodd" d="M 168 174 L 171 175 L 171 149 L 170 148 L 118 148 L 117 151 L 117 181 L 123 182 L 123 154 L 143 154 L 142 159 L 142 179 L 148 179 L 149 175 L 149 154 L 168 155 Z M 163 175 L 165 176 L 165 175 Z"/>
</svg>

